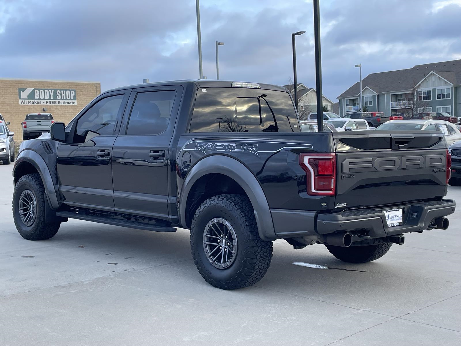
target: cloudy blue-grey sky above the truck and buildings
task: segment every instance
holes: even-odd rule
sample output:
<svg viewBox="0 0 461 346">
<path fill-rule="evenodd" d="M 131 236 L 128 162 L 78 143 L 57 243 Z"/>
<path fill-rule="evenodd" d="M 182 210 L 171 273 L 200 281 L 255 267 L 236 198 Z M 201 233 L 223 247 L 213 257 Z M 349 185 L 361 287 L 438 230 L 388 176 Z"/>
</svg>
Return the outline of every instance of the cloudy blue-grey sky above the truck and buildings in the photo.
<svg viewBox="0 0 461 346">
<path fill-rule="evenodd" d="M 203 72 L 315 87 L 312 0 L 201 0 Z M 461 59 L 461 0 L 321 0 L 324 95 L 372 72 Z M 0 77 L 100 81 L 101 89 L 198 78 L 195 0 L 0 0 Z"/>
</svg>

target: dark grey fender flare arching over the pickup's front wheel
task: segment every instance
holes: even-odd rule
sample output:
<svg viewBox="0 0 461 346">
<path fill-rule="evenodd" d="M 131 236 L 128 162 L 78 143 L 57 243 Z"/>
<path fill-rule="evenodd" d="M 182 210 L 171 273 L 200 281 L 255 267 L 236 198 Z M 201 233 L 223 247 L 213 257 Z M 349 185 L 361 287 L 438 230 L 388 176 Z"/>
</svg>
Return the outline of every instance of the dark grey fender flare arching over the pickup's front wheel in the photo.
<svg viewBox="0 0 461 346">
<path fill-rule="evenodd" d="M 28 162 L 35 167 L 37 172 L 40 174 L 40 178 L 43 182 L 43 186 L 45 187 L 45 192 L 51 208 L 59 209 L 59 198 L 54 188 L 53 178 L 51 177 L 51 173 L 48 169 L 47 164 L 45 163 L 45 160 L 43 160 L 43 158 L 34 150 L 22 150 L 19 153 L 18 158 L 16 159 L 16 163 L 14 164 L 13 177 L 16 176 L 18 168 L 21 167 L 21 164 L 24 162 Z"/>
</svg>

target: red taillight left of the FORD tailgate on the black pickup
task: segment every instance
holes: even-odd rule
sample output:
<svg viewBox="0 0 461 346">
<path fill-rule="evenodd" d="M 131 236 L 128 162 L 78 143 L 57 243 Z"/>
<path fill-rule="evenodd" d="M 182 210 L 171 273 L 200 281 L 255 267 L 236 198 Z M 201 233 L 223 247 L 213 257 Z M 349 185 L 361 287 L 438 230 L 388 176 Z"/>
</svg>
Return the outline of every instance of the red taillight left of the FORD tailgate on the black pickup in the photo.
<svg viewBox="0 0 461 346">
<path fill-rule="evenodd" d="M 334 196 L 336 186 L 336 155 L 300 154 L 299 164 L 306 172 L 307 194 Z"/>
</svg>

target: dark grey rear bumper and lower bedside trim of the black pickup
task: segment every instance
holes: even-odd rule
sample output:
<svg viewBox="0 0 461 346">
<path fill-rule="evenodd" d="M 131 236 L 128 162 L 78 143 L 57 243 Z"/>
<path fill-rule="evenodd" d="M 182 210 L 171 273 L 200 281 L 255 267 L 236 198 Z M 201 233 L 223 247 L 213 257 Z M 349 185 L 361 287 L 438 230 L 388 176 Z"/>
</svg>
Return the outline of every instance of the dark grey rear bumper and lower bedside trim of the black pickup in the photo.
<svg viewBox="0 0 461 346">
<path fill-rule="evenodd" d="M 317 214 L 301 210 L 271 210 L 275 232 L 278 237 L 292 238 L 304 235 L 335 232 L 367 231 L 372 238 L 419 232 L 429 228 L 431 221 L 452 214 L 456 203 L 453 200 L 404 204 L 385 209 L 358 209 L 335 214 Z M 402 225 L 387 227 L 383 210 L 403 209 Z M 301 220 L 304 220 L 301 227 Z M 284 225 L 286 231 L 280 229 Z"/>
</svg>

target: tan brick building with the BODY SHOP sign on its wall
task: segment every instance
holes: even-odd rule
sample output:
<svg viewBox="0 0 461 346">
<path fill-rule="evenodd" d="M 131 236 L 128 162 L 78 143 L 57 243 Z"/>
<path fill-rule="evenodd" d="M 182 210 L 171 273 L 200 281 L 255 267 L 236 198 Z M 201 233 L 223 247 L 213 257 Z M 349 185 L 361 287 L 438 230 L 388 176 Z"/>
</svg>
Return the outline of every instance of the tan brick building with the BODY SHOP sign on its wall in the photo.
<svg viewBox="0 0 461 346">
<path fill-rule="evenodd" d="M 67 124 L 100 92 L 99 82 L 0 78 L 0 114 L 20 142 L 27 113 L 52 113 Z"/>
</svg>

